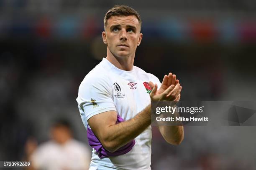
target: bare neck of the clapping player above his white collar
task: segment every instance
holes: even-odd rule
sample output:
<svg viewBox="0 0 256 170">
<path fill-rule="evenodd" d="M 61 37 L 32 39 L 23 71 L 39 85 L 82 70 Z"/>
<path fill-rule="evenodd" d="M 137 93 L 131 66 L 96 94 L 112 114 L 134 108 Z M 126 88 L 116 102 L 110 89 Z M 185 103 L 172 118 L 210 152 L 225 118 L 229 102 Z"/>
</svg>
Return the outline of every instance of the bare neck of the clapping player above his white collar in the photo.
<svg viewBox="0 0 256 170">
<path fill-rule="evenodd" d="M 131 71 L 133 69 L 135 53 L 130 56 L 117 57 L 107 47 L 106 59 L 120 70 Z"/>
</svg>

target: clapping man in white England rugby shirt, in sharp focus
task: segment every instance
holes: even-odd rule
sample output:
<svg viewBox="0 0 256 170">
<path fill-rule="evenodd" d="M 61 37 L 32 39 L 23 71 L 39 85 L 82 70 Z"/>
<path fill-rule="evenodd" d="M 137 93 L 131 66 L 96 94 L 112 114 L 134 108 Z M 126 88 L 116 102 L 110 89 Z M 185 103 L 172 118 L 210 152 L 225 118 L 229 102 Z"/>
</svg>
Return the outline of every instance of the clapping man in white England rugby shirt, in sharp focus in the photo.
<svg viewBox="0 0 256 170">
<path fill-rule="evenodd" d="M 110 9 L 104 29 L 107 57 L 86 75 L 77 97 L 93 148 L 90 170 L 150 170 L 151 102 L 178 101 L 182 87 L 172 73 L 160 83 L 133 66 L 142 33 L 140 15 L 131 7 Z M 168 143 L 179 145 L 183 140 L 183 126 L 159 130 Z"/>
</svg>

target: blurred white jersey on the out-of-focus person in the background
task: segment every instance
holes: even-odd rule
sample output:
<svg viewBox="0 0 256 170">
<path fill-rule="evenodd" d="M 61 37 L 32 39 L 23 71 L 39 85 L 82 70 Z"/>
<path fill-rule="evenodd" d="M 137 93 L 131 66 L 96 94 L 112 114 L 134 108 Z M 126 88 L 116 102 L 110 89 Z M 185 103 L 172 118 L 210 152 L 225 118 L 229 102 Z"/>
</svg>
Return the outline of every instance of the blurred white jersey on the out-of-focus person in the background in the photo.
<svg viewBox="0 0 256 170">
<path fill-rule="evenodd" d="M 85 170 L 90 164 L 90 150 L 71 139 L 60 145 L 50 140 L 38 146 L 31 155 L 36 170 Z"/>
</svg>

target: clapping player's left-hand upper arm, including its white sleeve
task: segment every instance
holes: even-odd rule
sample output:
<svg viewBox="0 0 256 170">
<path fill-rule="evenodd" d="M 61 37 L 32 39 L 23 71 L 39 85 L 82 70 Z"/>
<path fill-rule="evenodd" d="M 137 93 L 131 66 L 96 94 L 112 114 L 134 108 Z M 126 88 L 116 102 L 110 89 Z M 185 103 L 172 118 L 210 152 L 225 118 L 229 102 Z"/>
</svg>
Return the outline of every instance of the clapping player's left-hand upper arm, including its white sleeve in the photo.
<svg viewBox="0 0 256 170">
<path fill-rule="evenodd" d="M 77 102 L 84 126 L 87 128 L 89 124 L 105 147 L 109 136 L 108 127 L 115 125 L 117 120 L 113 87 L 108 77 L 95 74 L 85 77 L 79 87 Z"/>
</svg>

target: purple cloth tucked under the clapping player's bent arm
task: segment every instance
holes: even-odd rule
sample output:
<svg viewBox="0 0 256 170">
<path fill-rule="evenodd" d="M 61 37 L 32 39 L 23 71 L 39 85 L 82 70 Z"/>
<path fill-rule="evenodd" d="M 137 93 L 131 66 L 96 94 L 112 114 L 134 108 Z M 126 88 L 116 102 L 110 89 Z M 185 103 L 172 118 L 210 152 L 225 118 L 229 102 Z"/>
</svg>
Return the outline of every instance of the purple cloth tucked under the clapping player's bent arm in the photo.
<svg viewBox="0 0 256 170">
<path fill-rule="evenodd" d="M 116 124 L 123 122 L 123 118 L 117 115 L 117 120 Z M 91 128 L 89 128 L 89 125 L 87 125 L 87 138 L 89 145 L 96 150 L 96 153 L 98 153 L 99 157 L 105 158 L 105 157 L 110 157 L 110 156 L 119 156 L 123 155 L 125 153 L 128 153 L 133 146 L 135 145 L 135 140 L 132 140 L 131 142 L 127 143 L 126 145 L 122 146 L 118 150 L 116 150 L 113 153 L 110 153 L 108 150 L 106 150 L 102 144 L 100 143 L 100 140 L 94 135 L 92 132 Z"/>
</svg>

